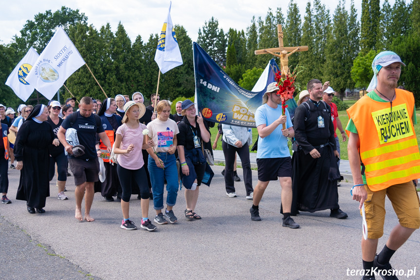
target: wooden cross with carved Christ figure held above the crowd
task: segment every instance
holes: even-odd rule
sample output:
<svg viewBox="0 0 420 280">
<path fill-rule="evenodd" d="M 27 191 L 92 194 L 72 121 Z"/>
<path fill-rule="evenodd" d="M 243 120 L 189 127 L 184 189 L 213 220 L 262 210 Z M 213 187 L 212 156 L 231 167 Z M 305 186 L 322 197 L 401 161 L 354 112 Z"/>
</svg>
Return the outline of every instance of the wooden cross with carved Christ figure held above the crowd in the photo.
<svg viewBox="0 0 420 280">
<path fill-rule="evenodd" d="M 291 56 L 295 52 L 308 51 L 308 46 L 284 47 L 283 46 L 283 31 L 281 29 L 281 24 L 277 24 L 277 36 L 278 36 L 278 46 L 279 46 L 278 48 L 256 50 L 254 53 L 256 55 L 270 54 L 273 56 L 280 57 L 281 76 L 283 78 L 286 78 L 286 75 L 290 75 L 289 65 L 288 65 L 289 56 Z M 277 55 L 275 53 L 280 53 L 280 55 Z"/>
</svg>

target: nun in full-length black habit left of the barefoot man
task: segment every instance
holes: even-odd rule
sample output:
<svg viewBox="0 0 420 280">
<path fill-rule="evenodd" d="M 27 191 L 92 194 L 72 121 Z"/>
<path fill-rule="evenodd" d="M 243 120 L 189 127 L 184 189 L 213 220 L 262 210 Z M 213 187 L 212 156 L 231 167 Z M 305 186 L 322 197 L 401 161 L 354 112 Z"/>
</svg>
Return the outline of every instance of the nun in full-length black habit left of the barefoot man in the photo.
<svg viewBox="0 0 420 280">
<path fill-rule="evenodd" d="M 45 213 L 45 201 L 50 196 L 49 146 L 59 145 L 47 118 L 47 106 L 35 106 L 20 127 L 15 142 L 16 169 L 20 170 L 16 199 L 25 200 L 31 214 Z"/>
</svg>

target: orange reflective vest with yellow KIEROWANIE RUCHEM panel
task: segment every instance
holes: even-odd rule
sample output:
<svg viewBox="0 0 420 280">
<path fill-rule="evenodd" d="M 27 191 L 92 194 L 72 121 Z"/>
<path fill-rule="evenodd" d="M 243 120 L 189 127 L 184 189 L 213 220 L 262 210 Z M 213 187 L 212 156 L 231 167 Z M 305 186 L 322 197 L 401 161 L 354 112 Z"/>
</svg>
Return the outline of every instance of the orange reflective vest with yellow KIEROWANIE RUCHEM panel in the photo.
<svg viewBox="0 0 420 280">
<path fill-rule="evenodd" d="M 414 96 L 395 91 L 392 113 L 389 102 L 368 96 L 347 109 L 359 134 L 360 158 L 372 191 L 420 178 L 420 154 L 412 121 Z"/>
</svg>

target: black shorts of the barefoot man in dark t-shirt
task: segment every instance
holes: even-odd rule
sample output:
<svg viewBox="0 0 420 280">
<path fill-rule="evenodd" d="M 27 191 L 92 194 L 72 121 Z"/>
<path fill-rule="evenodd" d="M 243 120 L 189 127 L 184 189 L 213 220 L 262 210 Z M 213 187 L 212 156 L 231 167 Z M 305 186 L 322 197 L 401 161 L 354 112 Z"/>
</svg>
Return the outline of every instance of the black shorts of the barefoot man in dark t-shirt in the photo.
<svg viewBox="0 0 420 280">
<path fill-rule="evenodd" d="M 98 182 L 99 160 L 69 158 L 69 166 L 74 176 L 74 185 L 79 186 L 85 182 Z"/>
</svg>

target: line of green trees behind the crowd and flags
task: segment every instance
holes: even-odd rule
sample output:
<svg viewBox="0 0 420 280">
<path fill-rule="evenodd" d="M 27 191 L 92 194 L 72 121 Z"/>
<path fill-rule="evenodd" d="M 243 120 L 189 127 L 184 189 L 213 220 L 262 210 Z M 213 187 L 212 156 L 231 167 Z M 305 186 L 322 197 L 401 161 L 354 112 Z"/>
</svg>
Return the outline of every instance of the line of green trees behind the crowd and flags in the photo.
<svg viewBox="0 0 420 280">
<path fill-rule="evenodd" d="M 246 30 L 219 27 L 218 19 L 211 18 L 199 29 L 197 42 L 240 86 L 251 90 L 266 67 L 271 55 L 254 54 L 257 49 L 278 47 L 277 24 L 282 24 L 284 46 L 309 47 L 289 57 L 291 68 L 303 66 L 298 82 L 305 87 L 312 78 L 329 80 L 336 92 L 365 88 L 373 75 L 371 62 L 383 50 L 395 51 L 407 65 L 403 68 L 400 84 L 420 100 L 420 0 L 405 2 L 363 0 L 361 20 L 358 20 L 354 2 L 346 9 L 346 1 L 339 0 L 330 15 L 321 0 L 309 0 L 303 13 L 295 0 L 288 8 L 269 9 L 265 17 L 253 17 Z M 9 44 L 0 44 L 0 98 L 17 107 L 21 100 L 4 85 L 18 61 L 33 46 L 38 53 L 62 25 L 74 45 L 91 68 L 108 96 L 131 95 L 141 92 L 147 98 L 156 92 L 159 68 L 154 61 L 158 34 L 148 38 L 140 35 L 132 42 L 121 22 L 113 32 L 107 23 L 99 29 L 89 24 L 79 10 L 62 7 L 60 10 L 35 15 L 27 20 L 19 35 Z M 183 57 L 183 65 L 161 75 L 159 93 L 175 100 L 192 96 L 195 91 L 192 40 L 182 25 L 175 32 Z M 274 57 L 275 58 L 275 57 Z M 275 58 L 277 63 L 279 61 Z M 105 96 L 83 66 L 66 82 L 69 90 L 79 99 Z M 60 89 L 60 99 L 70 97 Z M 30 98 L 35 98 L 34 92 Z M 62 100 L 61 99 L 61 100 Z M 28 104 L 37 100 L 28 101 Z"/>
</svg>

